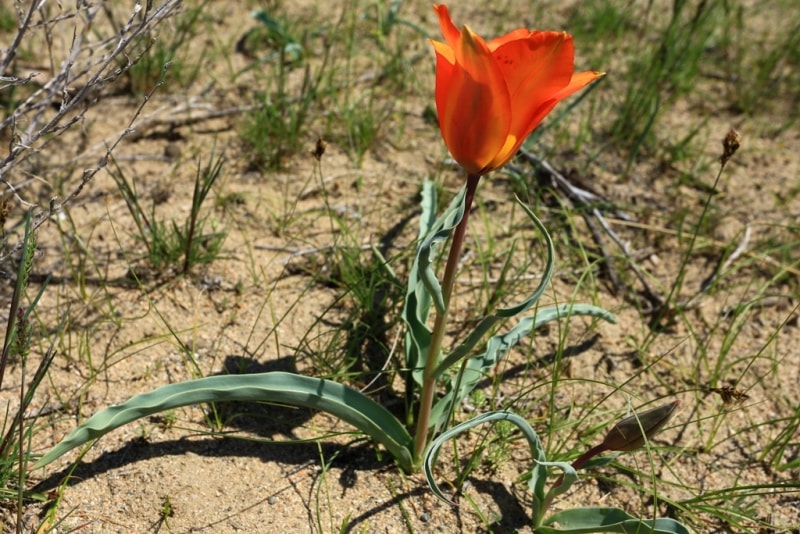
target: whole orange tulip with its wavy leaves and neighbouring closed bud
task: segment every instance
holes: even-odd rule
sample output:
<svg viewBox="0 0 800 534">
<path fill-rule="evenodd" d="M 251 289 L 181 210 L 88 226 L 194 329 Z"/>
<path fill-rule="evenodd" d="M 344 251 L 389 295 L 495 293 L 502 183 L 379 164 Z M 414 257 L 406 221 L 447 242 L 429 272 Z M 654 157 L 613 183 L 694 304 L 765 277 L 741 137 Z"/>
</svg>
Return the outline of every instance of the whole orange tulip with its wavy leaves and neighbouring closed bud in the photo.
<svg viewBox="0 0 800 534">
<path fill-rule="evenodd" d="M 537 308 L 535 313 L 526 315 L 549 283 L 554 250 L 542 223 L 520 202 L 547 247 L 547 262 L 539 286 L 521 303 L 500 308 L 482 318 L 455 348 L 445 348 L 444 333 L 458 261 L 481 177 L 507 163 L 558 102 L 602 73 L 574 72 L 573 42 L 567 33 L 518 29 L 487 42 L 467 26 L 457 28 L 445 6 L 434 6 L 434 9 L 444 36 L 443 42 L 432 41 L 436 54 L 439 126 L 450 153 L 466 171 L 466 182 L 438 218 L 434 213 L 437 204 L 434 187 L 430 183 L 423 184 L 420 238 L 402 312 L 407 325 L 407 385 L 418 398 L 411 428 L 370 397 L 331 380 L 283 372 L 213 376 L 170 384 L 95 414 L 47 452 L 34 468 L 43 467 L 75 447 L 156 412 L 198 403 L 264 401 L 313 408 L 339 417 L 382 445 L 404 471 L 424 469 L 433 491 L 444 498 L 433 478 L 433 466 L 441 445 L 476 425 L 505 420 L 518 426 L 530 444 L 534 461 L 530 488 L 534 495 L 536 532 L 687 532 L 672 519 L 640 520 L 615 508 L 576 508 L 545 516 L 553 498 L 577 479 L 579 467 L 601 452 L 643 446 L 661 429 L 676 402 L 634 414 L 620 422 L 602 444 L 573 464 L 546 461 L 544 449 L 530 424 L 507 411 L 489 412 L 445 428 L 455 408 L 480 379 L 491 372 L 511 347 L 540 325 L 574 315 L 607 321 L 614 321 L 614 317 L 588 305 Z M 440 281 L 433 263 L 438 247 L 447 241 L 450 249 Z M 431 314 L 433 318 L 429 321 Z M 490 330 L 514 318 L 518 318 L 516 324 L 489 337 L 482 349 L 476 349 Z M 608 461 L 606 458 L 605 462 Z M 550 468 L 562 474 L 546 490 Z"/>
</svg>

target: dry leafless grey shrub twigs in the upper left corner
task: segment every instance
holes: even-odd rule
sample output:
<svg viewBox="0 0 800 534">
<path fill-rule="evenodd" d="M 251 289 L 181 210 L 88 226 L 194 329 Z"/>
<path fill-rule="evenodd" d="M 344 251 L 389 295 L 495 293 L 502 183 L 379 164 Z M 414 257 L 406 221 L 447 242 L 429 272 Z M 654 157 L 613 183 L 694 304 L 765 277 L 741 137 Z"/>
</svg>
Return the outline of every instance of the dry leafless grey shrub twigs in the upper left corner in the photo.
<svg viewBox="0 0 800 534">
<path fill-rule="evenodd" d="M 0 184 L 6 189 L 0 196 L 11 197 L 20 207 L 33 209 L 34 230 L 53 212 L 75 199 L 106 166 L 114 149 L 133 132 L 136 119 L 163 81 L 163 73 L 142 98 L 127 126 L 103 147 L 96 164 L 82 172 L 79 182 L 62 201 L 51 199 L 48 206 L 42 207 L 35 198 L 25 198 L 22 190 L 35 182 L 28 179 L 35 173 L 29 172 L 26 161 L 32 154 L 46 151 L 55 139 L 91 114 L 109 86 L 147 53 L 154 42 L 156 28 L 178 12 L 181 0 L 163 0 L 157 6 L 148 0 L 144 7 L 136 2 L 122 24 L 114 19 L 112 10 L 104 2 L 76 4 L 71 11 L 51 13 L 52 3 L 31 2 L 26 12 L 19 13 L 20 24 L 11 45 L 0 52 L 0 92 L 15 87 L 36 87 L 20 102 L 12 103 L 11 110 L 0 122 L 0 139 L 8 144 L 7 154 L 0 156 Z M 59 9 L 63 7 L 58 5 Z M 34 22 L 35 19 L 39 20 Z M 71 35 L 64 57 L 56 57 L 58 47 L 53 46 L 54 35 Z M 46 47 L 50 63 L 49 69 L 42 69 L 49 70 L 50 78 L 46 81 L 39 82 L 40 78 L 45 78 L 39 70 L 31 69 L 22 75 L 14 72 L 22 70 L 20 52 L 31 46 Z M 136 52 L 130 54 L 133 48 Z M 0 262 L 20 246 L 19 243 L 9 246 L 5 239 L 4 236 L 0 244 Z"/>
</svg>

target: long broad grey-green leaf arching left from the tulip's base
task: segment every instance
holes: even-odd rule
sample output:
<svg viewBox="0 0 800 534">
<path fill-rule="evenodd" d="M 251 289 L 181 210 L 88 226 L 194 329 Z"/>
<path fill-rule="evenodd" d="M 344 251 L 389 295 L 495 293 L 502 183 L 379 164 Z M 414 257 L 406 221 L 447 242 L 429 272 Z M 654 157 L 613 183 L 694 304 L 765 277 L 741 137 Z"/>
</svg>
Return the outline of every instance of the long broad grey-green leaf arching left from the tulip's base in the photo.
<svg viewBox="0 0 800 534">
<path fill-rule="evenodd" d="M 386 408 L 337 382 L 282 372 L 211 376 L 136 395 L 93 415 L 33 468 L 44 467 L 75 447 L 141 417 L 191 404 L 223 401 L 277 402 L 330 413 L 381 443 L 402 469 L 413 470 L 411 436 Z"/>
</svg>

